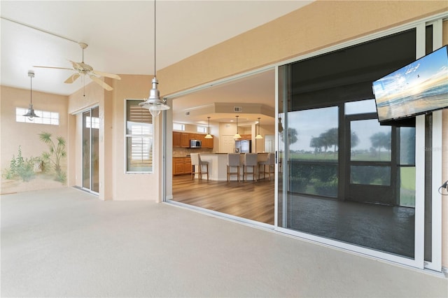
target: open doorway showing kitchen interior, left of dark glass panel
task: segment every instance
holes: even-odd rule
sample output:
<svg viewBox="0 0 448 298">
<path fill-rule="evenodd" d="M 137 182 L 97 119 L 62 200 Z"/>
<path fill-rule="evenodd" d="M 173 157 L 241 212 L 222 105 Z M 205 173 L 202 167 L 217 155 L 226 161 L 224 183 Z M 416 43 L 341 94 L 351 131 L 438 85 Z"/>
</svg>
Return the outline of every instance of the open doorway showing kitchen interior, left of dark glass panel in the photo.
<svg viewBox="0 0 448 298">
<path fill-rule="evenodd" d="M 174 164 L 183 162 L 188 165 L 190 153 L 213 154 L 223 157 L 227 153 L 235 152 L 235 132 L 244 136 L 244 140 L 252 142 L 252 152 L 262 153 L 274 151 L 275 148 L 275 70 L 264 69 L 253 74 L 245 74 L 240 78 L 229 78 L 225 82 L 214 83 L 212 87 L 189 90 L 185 94 L 176 94 L 172 98 L 172 122 L 176 135 L 190 134 L 197 136 L 196 129 L 200 125 L 209 125 L 207 132 L 214 137 L 213 148 L 188 148 L 179 142 L 172 150 L 173 170 L 167 169 L 168 201 L 175 204 L 183 204 L 192 208 L 201 208 L 203 211 L 220 213 L 225 217 L 242 221 L 255 221 L 258 225 L 274 225 L 274 178 L 263 174 L 258 180 L 258 169 L 255 174 L 257 181 L 237 181 L 232 176 L 232 181 L 226 180 L 226 164 L 220 162 L 219 169 L 223 170 L 223 176 L 218 174 L 218 179 L 199 180 L 192 178 L 188 173 L 174 173 Z M 239 122 L 235 121 L 238 115 Z M 210 122 L 207 121 L 210 117 Z M 260 132 L 256 126 L 258 120 L 262 120 L 261 134 L 267 138 L 268 149 L 265 149 L 265 140 L 256 139 L 255 133 Z M 167 124 L 167 128 L 172 127 Z M 257 130 L 258 127 L 258 130 Z M 181 131 L 179 131 L 182 129 Z M 171 132 L 167 131 L 167 135 Z M 255 146 L 255 142 L 259 146 Z M 180 142 L 181 143 L 181 142 Z M 204 143 L 202 143 L 204 145 Z M 242 155 L 241 155 L 242 156 Z M 218 159 L 218 158 L 216 158 Z M 223 160 L 220 158 L 219 160 Z M 212 165 L 209 171 L 213 174 Z M 240 173 L 242 175 L 242 164 Z M 267 169 L 267 168 L 266 168 Z M 267 170 L 266 170 L 267 171 Z M 222 171 L 220 171 L 221 173 Z M 222 178 L 223 177 L 223 178 Z M 242 176 L 241 176 L 242 177 Z M 270 179 L 269 179 L 270 178 Z M 235 179 L 235 180 L 234 180 Z M 169 182 L 168 182 L 169 183 Z M 172 195 L 169 188 L 172 187 Z"/>
</svg>

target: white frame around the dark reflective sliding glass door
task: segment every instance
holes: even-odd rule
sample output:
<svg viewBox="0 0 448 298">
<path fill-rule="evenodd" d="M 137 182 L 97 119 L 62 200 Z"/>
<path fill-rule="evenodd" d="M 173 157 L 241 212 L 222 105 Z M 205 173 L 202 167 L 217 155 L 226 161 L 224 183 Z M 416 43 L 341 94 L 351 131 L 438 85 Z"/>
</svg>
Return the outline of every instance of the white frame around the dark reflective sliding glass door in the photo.
<svg viewBox="0 0 448 298">
<path fill-rule="evenodd" d="M 434 15 L 432 17 L 428 17 L 423 20 L 418 20 L 416 22 L 412 22 L 409 24 L 402 25 L 400 27 L 396 27 L 393 29 L 387 29 L 385 31 L 381 31 L 376 34 L 371 34 L 365 36 L 363 38 L 358 38 L 353 41 L 349 41 L 346 43 L 341 43 L 339 45 L 332 46 L 330 48 L 325 48 L 322 50 L 318 50 L 316 52 L 311 52 L 307 55 L 303 55 L 300 57 L 296 57 L 294 59 L 289 59 L 288 61 L 281 62 L 276 65 L 275 68 L 275 79 L 276 79 L 276 105 L 275 105 L 275 114 L 276 117 L 279 118 L 279 111 L 285 111 L 282 113 L 283 117 L 283 129 L 287 129 L 288 123 L 288 113 L 287 110 L 287 101 L 286 99 L 279 99 L 279 77 L 282 75 L 279 73 L 279 66 L 290 64 L 293 62 L 300 61 L 302 59 L 307 59 L 311 57 L 315 57 L 318 55 L 325 54 L 327 52 L 332 52 L 334 50 L 340 50 L 342 48 L 349 47 L 351 45 L 357 45 L 359 43 L 363 43 L 365 41 L 372 41 L 375 38 L 381 38 L 384 36 L 389 36 L 391 34 L 395 34 L 401 31 L 405 31 L 407 29 L 416 29 L 416 58 L 422 57 L 425 55 L 425 34 L 426 34 L 426 25 L 433 24 L 433 50 L 440 48 L 442 46 L 442 20 L 447 16 L 447 13 L 442 13 L 440 15 Z M 284 77 L 284 75 L 283 75 Z M 283 90 L 285 91 L 285 90 Z M 286 94 L 286 92 L 282 92 L 282 94 Z M 279 102 L 283 103 L 282 107 L 279 107 Z M 318 243 L 323 243 L 328 246 L 335 246 L 337 248 L 343 248 L 353 253 L 360 253 L 363 255 L 369 255 L 372 257 L 377 257 L 379 259 L 388 260 L 391 262 L 397 262 L 400 264 L 404 264 L 410 267 L 416 267 L 418 269 L 432 269 L 435 271 L 442 271 L 441 257 L 442 257 L 442 211 L 441 211 L 441 196 L 437 194 L 437 189 L 440 185 L 437 184 L 437 181 L 442 180 L 442 111 L 436 111 L 433 113 L 433 148 L 440 148 L 440 150 L 435 150 L 433 152 L 432 165 L 433 165 L 433 178 L 432 178 L 432 190 L 433 190 L 433 211 L 432 211 L 432 262 L 427 262 L 424 260 L 424 220 L 425 220 L 425 211 L 424 211 L 424 200 L 425 200 L 425 187 L 421 185 L 422 183 L 416 183 L 416 206 L 415 206 L 415 226 L 414 226 L 414 259 L 409 259 L 407 257 L 401 257 L 398 255 L 393 255 L 390 253 L 384 253 L 377 250 L 372 250 L 370 248 L 363 248 L 360 246 L 355 246 L 349 243 L 343 243 L 341 241 L 335 241 L 332 239 L 325 239 L 320 236 L 314 236 L 311 234 L 306 234 L 303 232 L 297 232 L 292 229 L 286 229 L 279 225 L 279 220 L 282 220 L 283 224 L 286 222 L 286 196 L 281 198 L 281 208 L 283 208 L 282 218 L 279 219 L 279 175 L 275 177 L 275 218 L 274 218 L 274 230 L 286 234 L 291 234 L 293 236 L 298 236 L 304 239 L 308 239 L 311 241 L 316 241 Z M 279 140 L 279 123 L 276 122 L 275 125 L 275 138 Z M 284 145 L 285 148 L 287 144 Z M 425 115 L 419 115 L 416 117 L 416 181 L 424 181 L 425 178 Z M 276 141 L 276 157 L 279 152 L 279 141 Z M 284 150 L 284 154 L 288 154 L 288 150 Z M 287 156 L 284 157 L 287 160 Z M 276 160 L 275 170 L 279 173 L 279 162 Z M 286 194 L 285 187 L 287 185 L 285 178 L 288 178 L 287 167 L 283 166 L 283 193 Z M 281 173 L 279 173 L 281 174 Z M 283 225 L 286 226 L 286 225 Z"/>
</svg>

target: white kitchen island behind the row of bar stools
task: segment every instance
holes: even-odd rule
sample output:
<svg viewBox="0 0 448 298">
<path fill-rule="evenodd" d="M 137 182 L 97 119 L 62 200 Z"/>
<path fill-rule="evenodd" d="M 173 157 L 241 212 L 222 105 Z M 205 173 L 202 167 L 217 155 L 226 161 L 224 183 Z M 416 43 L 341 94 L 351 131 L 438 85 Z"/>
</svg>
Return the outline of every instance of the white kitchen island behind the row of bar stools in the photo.
<svg viewBox="0 0 448 298">
<path fill-rule="evenodd" d="M 227 180 L 227 155 L 228 153 L 201 153 L 201 159 L 204 162 L 209 162 L 209 180 L 226 181 Z M 258 162 L 267 159 L 267 153 L 258 153 Z M 244 153 L 239 155 L 241 166 L 239 168 L 240 178 L 243 176 L 243 162 Z M 232 166 L 231 171 L 237 171 L 235 166 Z M 258 173 L 258 166 L 255 174 Z M 197 174 L 195 175 L 197 178 Z M 230 180 L 237 180 L 237 177 L 230 177 Z"/>
</svg>

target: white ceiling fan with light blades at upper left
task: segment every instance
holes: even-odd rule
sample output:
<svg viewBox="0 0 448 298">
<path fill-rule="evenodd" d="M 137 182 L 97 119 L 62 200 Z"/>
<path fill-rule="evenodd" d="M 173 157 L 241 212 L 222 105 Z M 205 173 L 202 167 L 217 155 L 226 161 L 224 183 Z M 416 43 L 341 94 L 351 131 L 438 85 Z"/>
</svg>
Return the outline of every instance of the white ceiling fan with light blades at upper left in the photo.
<svg viewBox="0 0 448 298">
<path fill-rule="evenodd" d="M 116 80 L 121 80 L 120 76 L 114 74 L 114 73 L 105 73 L 104 71 L 95 71 L 92 66 L 89 64 L 84 63 L 84 49 L 87 48 L 87 43 L 78 43 L 80 48 L 83 49 L 83 61 L 82 62 L 71 62 L 71 65 L 73 68 L 65 68 L 65 67 L 53 67 L 53 66 L 33 66 L 33 67 L 40 67 L 43 69 L 68 69 L 68 70 L 74 70 L 76 73 L 73 73 L 69 78 L 67 78 L 64 83 L 71 84 L 73 83 L 77 78 L 79 78 L 81 75 L 87 75 L 89 78 L 91 78 L 95 83 L 103 87 L 105 90 L 111 91 L 113 90 L 113 87 L 107 85 L 104 83 L 103 80 L 99 79 L 99 76 L 104 76 L 107 78 L 114 78 Z"/>
</svg>

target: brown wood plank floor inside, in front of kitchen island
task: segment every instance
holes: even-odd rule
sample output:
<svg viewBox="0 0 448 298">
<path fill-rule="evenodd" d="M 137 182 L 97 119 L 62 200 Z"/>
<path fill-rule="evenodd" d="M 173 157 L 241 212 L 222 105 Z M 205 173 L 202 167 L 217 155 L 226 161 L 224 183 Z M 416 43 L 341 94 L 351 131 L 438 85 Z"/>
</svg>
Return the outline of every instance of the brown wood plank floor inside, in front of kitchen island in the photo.
<svg viewBox="0 0 448 298">
<path fill-rule="evenodd" d="M 173 201 L 274 225 L 274 179 L 257 182 L 173 177 Z"/>
</svg>

